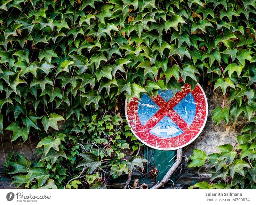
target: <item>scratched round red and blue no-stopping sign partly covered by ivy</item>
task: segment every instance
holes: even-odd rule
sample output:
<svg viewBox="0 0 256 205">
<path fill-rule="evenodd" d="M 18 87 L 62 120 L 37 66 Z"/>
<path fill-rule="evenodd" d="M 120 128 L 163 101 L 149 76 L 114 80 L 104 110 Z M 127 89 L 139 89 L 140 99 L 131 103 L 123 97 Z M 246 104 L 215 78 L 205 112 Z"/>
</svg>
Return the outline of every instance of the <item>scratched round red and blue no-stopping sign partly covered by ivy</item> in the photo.
<svg viewBox="0 0 256 205">
<path fill-rule="evenodd" d="M 194 141 L 204 128 L 208 104 L 202 87 L 189 84 L 172 95 L 171 90 L 147 94 L 141 100 L 125 102 L 125 116 L 132 133 L 145 145 L 159 150 L 175 150 Z"/>
</svg>

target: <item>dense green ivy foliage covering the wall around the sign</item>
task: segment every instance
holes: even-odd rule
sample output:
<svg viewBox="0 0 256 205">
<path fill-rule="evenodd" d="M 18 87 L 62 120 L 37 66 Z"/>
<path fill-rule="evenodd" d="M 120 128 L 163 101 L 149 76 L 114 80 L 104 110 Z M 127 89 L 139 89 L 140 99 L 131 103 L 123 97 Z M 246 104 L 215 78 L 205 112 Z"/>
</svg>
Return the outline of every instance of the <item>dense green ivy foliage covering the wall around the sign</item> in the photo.
<svg viewBox="0 0 256 205">
<path fill-rule="evenodd" d="M 142 171 L 147 160 L 135 155 L 142 145 L 122 118 L 124 99 L 199 82 L 222 92 L 212 122 L 247 124 L 221 153 L 194 149 L 189 166 L 207 163 L 212 180 L 220 178 L 203 187 L 254 188 L 255 7 L 255 0 L 1 1 L 1 135 L 38 148 L 35 161 L 9 153 L 12 184 L 107 188 L 109 178 Z"/>
</svg>

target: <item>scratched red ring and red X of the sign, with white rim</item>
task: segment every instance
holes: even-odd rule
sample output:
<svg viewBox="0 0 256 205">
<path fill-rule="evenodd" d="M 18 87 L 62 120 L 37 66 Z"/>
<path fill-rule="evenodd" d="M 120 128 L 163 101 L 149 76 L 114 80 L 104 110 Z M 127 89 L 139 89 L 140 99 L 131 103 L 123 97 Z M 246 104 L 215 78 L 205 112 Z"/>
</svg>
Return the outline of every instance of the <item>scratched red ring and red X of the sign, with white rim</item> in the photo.
<svg viewBox="0 0 256 205">
<path fill-rule="evenodd" d="M 195 103 L 195 117 L 189 125 L 185 122 L 173 108 L 183 99 L 188 93 L 191 93 Z M 176 150 L 187 146 L 194 141 L 204 128 L 208 114 L 208 104 L 205 93 L 202 87 L 197 83 L 193 91 L 189 84 L 182 87 L 182 91 L 178 91 L 174 97 L 167 102 L 158 94 L 152 100 L 160 108 L 145 124 L 140 122 L 138 116 L 137 98 L 132 98 L 131 102 L 125 102 L 125 116 L 131 127 L 132 133 L 145 145 L 159 150 Z M 150 108 L 149 108 L 150 109 Z M 185 112 L 185 110 L 184 110 Z M 159 137 L 150 132 L 164 116 L 168 116 L 179 128 L 182 134 L 171 138 Z M 159 128 L 160 129 L 160 128 Z"/>
</svg>

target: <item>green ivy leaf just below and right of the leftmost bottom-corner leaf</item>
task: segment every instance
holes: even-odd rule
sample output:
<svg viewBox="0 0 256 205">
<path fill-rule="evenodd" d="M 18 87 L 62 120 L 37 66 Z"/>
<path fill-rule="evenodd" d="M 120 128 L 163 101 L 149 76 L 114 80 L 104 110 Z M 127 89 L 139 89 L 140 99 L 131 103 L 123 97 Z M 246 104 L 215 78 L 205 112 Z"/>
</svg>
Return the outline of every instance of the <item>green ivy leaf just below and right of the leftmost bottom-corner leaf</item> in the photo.
<svg viewBox="0 0 256 205">
<path fill-rule="evenodd" d="M 28 180 L 32 181 L 34 178 L 38 180 L 38 185 L 42 186 L 46 180 L 50 177 L 50 174 L 47 174 L 48 171 L 44 167 L 34 167 L 28 170 Z"/>
</svg>

